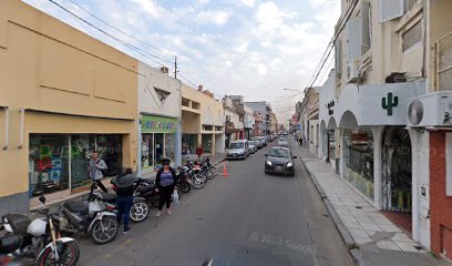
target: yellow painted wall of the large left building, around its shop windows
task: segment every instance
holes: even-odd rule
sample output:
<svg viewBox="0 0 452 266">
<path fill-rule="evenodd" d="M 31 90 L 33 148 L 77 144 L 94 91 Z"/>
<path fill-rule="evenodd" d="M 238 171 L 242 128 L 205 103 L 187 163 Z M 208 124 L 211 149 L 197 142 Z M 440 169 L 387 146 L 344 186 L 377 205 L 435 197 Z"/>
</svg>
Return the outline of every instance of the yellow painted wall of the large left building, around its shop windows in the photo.
<svg viewBox="0 0 452 266">
<path fill-rule="evenodd" d="M 28 191 L 29 133 L 124 133 L 124 166 L 136 161 L 137 61 L 16 0 L 0 2 L 0 105 L 10 108 L 8 150 L 0 151 L 0 196 Z M 20 109 L 27 111 L 23 146 Z M 127 122 L 127 121 L 129 122 Z M 4 114 L 0 116 L 4 125 Z M 4 131 L 0 141 L 4 143 Z"/>
</svg>

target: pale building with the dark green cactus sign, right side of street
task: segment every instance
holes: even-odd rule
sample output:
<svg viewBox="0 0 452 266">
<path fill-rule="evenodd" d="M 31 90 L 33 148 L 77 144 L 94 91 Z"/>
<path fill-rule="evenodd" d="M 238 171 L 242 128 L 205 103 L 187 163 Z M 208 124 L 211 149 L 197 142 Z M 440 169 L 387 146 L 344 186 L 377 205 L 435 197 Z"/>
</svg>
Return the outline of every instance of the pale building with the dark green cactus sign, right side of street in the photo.
<svg viewBox="0 0 452 266">
<path fill-rule="evenodd" d="M 413 239 L 445 255 L 452 45 L 441 42 L 451 4 L 342 0 L 336 65 L 319 98 L 319 156 L 377 208 L 410 214 Z"/>
</svg>

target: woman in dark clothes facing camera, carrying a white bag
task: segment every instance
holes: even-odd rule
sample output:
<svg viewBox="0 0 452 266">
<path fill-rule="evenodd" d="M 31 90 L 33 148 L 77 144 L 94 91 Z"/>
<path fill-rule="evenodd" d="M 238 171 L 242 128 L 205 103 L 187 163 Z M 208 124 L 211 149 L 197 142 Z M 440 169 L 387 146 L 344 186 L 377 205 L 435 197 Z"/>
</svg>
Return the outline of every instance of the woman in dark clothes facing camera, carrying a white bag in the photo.
<svg viewBox="0 0 452 266">
<path fill-rule="evenodd" d="M 170 166 L 171 161 L 164 158 L 162 162 L 162 168 L 157 172 L 155 178 L 155 191 L 158 193 L 158 212 L 157 217 L 162 214 L 163 205 L 166 203 L 166 213 L 172 214 L 171 212 L 171 197 L 175 191 L 177 191 L 177 175 L 176 171 Z"/>
</svg>

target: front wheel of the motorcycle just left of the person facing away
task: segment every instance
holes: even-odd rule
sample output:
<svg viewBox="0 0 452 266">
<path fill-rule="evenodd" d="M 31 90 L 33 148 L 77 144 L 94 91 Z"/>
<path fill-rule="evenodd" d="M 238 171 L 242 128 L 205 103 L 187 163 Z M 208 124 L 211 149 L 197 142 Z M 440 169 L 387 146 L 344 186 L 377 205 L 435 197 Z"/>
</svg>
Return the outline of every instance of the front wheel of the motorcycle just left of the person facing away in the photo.
<svg viewBox="0 0 452 266">
<path fill-rule="evenodd" d="M 101 221 L 96 221 L 91 232 L 91 238 L 95 244 L 106 244 L 112 242 L 120 231 L 116 217 L 104 216 Z"/>
</svg>

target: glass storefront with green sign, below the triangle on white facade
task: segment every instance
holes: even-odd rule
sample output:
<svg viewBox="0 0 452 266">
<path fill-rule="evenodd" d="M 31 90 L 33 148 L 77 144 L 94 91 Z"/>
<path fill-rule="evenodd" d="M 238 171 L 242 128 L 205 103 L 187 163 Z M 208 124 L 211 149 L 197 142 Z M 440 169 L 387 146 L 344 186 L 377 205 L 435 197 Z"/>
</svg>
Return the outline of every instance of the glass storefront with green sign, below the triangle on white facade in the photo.
<svg viewBox="0 0 452 266">
<path fill-rule="evenodd" d="M 177 119 L 142 114 L 142 170 L 151 172 L 162 166 L 162 160 L 176 158 Z"/>
</svg>

